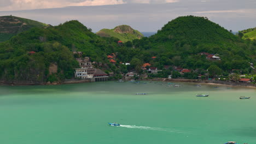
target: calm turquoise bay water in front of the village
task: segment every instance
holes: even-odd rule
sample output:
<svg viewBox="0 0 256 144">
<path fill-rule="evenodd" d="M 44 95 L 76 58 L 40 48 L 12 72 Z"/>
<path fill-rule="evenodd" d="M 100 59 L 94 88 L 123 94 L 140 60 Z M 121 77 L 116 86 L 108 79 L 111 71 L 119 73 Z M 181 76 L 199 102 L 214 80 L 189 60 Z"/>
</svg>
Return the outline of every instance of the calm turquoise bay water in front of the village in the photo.
<svg viewBox="0 0 256 144">
<path fill-rule="evenodd" d="M 179 84 L 0 86 L 0 143 L 256 143 L 255 88 Z"/>
</svg>

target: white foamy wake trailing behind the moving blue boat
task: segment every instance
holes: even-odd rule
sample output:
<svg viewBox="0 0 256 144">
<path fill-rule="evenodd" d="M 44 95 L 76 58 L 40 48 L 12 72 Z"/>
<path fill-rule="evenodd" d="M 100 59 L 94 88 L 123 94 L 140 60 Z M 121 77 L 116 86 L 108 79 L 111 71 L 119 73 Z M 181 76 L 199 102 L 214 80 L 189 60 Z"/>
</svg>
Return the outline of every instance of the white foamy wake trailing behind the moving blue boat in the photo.
<svg viewBox="0 0 256 144">
<path fill-rule="evenodd" d="M 188 131 L 175 130 L 175 129 L 165 129 L 165 128 L 153 128 L 153 127 L 143 127 L 136 125 L 120 125 L 120 127 L 131 128 L 131 129 L 144 129 L 144 130 L 158 130 L 158 131 L 168 131 L 172 133 L 188 133 Z"/>
</svg>

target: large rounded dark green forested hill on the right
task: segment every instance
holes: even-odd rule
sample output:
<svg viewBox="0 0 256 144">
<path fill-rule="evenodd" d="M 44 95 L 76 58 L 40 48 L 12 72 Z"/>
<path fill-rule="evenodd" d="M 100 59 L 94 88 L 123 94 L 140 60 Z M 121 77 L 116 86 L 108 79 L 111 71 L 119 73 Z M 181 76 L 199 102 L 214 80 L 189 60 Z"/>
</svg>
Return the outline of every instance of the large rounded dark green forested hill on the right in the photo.
<svg viewBox="0 0 256 144">
<path fill-rule="evenodd" d="M 207 69 L 217 65 L 224 71 L 247 69 L 253 62 L 255 49 L 249 48 L 241 38 L 211 22 L 206 17 L 181 16 L 168 22 L 149 38 L 133 41 L 137 49 L 144 51 L 139 57 L 158 57 L 158 65 L 177 65 L 189 69 Z M 221 61 L 208 61 L 201 52 L 218 54 Z M 146 59 L 145 62 L 152 60 Z M 152 62 L 154 63 L 154 61 Z"/>
</svg>

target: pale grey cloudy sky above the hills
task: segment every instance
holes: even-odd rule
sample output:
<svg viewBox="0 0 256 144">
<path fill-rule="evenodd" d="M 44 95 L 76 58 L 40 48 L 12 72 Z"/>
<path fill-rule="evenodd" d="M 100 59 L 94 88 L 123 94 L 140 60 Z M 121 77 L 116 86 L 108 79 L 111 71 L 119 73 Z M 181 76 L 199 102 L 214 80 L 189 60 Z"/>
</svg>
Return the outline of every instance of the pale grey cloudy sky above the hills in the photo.
<svg viewBox="0 0 256 144">
<path fill-rule="evenodd" d="M 155 32 L 178 16 L 206 16 L 232 31 L 256 27 L 255 0 L 0 0 L 0 16 L 51 25 L 79 20 L 94 32 L 126 24 Z"/>
</svg>

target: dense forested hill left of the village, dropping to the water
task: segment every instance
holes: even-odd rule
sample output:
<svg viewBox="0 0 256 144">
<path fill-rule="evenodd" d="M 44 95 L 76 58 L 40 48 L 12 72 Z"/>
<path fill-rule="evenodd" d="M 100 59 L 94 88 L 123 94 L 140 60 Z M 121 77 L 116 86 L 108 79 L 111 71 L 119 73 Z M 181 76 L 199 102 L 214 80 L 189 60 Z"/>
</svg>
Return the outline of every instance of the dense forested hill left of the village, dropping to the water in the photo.
<svg viewBox="0 0 256 144">
<path fill-rule="evenodd" d="M 92 61 L 103 62 L 107 61 L 106 53 L 117 47 L 117 41 L 99 37 L 78 21 L 35 27 L 0 43 L 0 80 L 44 83 L 53 77 L 49 74 L 51 64 L 58 68 L 54 78 L 70 79 L 74 68 L 78 68 L 72 50 L 84 52 Z M 35 53 L 30 54 L 31 51 Z"/>
</svg>

